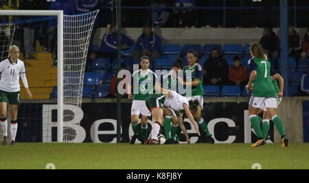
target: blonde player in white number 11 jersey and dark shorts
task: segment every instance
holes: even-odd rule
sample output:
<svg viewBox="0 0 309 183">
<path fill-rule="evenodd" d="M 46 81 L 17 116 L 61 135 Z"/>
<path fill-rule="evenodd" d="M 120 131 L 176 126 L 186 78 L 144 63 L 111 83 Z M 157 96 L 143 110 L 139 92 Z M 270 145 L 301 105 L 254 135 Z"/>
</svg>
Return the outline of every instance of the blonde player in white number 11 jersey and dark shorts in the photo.
<svg viewBox="0 0 309 183">
<path fill-rule="evenodd" d="M 0 125 L 3 130 L 3 145 L 8 143 L 8 120 L 7 106 L 10 104 L 10 132 L 12 136 L 11 145 L 15 143 L 17 132 L 17 112 L 19 109 L 19 97 L 21 87 L 19 85 L 19 76 L 23 81 L 27 95 L 32 99 L 32 93 L 27 84 L 25 76 L 25 65 L 19 60 L 19 47 L 12 45 L 9 49 L 9 58 L 0 62 Z"/>
</svg>

